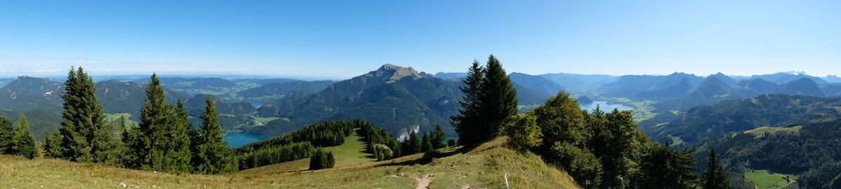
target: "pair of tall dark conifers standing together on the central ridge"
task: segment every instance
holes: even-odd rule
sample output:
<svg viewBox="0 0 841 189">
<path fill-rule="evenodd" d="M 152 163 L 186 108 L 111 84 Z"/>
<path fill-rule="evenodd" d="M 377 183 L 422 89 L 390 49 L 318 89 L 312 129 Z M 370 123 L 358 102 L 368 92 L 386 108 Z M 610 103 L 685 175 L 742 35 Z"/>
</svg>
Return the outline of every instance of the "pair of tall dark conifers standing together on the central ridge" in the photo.
<svg viewBox="0 0 841 189">
<path fill-rule="evenodd" d="M 462 144 L 479 144 L 496 136 L 497 130 L 517 111 L 514 84 L 494 55 L 485 66 L 473 60 L 464 79 L 462 108 L 451 118 Z"/>
</svg>

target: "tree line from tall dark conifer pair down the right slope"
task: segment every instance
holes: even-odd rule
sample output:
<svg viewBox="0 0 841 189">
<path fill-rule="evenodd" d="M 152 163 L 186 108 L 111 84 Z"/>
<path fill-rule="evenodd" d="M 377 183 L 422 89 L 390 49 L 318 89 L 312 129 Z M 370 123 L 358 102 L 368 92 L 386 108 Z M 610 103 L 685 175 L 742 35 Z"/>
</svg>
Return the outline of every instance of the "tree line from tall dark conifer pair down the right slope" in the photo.
<svg viewBox="0 0 841 189">
<path fill-rule="evenodd" d="M 584 188 L 730 188 L 721 168 L 696 175 L 694 149 L 657 144 L 637 129 L 630 111 L 579 108 L 559 92 L 540 107 L 516 114 L 516 90 L 495 56 L 474 60 L 453 116 L 461 144 L 507 136 L 512 148 L 542 155 Z M 711 152 L 710 167 L 720 167 Z"/>
</svg>

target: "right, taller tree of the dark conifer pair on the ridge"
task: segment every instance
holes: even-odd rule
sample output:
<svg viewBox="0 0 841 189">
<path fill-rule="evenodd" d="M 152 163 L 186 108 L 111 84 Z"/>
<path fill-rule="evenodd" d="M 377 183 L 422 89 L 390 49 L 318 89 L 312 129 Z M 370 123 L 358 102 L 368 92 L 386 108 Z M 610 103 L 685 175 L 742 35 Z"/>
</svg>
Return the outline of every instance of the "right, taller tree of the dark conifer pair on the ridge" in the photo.
<svg viewBox="0 0 841 189">
<path fill-rule="evenodd" d="M 484 70 L 480 87 L 483 122 L 476 128 L 480 133 L 478 142 L 494 139 L 505 120 L 517 113 L 517 92 L 500 60 L 490 55 Z"/>
</svg>

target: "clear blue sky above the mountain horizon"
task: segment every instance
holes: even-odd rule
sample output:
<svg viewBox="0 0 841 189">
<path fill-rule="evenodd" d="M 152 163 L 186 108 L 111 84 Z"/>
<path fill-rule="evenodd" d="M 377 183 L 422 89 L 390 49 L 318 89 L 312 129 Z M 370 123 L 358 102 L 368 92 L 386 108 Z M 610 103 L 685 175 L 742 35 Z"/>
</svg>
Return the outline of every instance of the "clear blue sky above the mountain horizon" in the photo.
<svg viewBox="0 0 841 189">
<path fill-rule="evenodd" d="M 841 75 L 841 1 L 3 1 L 0 76 Z"/>
</svg>

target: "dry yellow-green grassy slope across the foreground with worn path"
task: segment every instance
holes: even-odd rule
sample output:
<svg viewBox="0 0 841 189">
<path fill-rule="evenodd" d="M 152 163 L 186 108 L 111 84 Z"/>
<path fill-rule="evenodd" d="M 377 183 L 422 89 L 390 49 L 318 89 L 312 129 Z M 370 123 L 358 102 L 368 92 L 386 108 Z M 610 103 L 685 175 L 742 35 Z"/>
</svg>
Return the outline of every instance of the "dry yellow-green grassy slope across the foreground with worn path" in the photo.
<svg viewBox="0 0 841 189">
<path fill-rule="evenodd" d="M 421 154 L 359 165 L 359 160 L 341 160 L 354 154 L 337 151 L 337 165 L 340 166 L 334 169 L 283 171 L 309 162 L 297 160 L 270 165 L 262 171 L 254 169 L 224 176 L 175 176 L 65 160 L 0 156 L 0 162 L 3 162 L 0 163 L 0 178 L 3 178 L 0 186 L 89 188 L 118 187 L 125 183 L 140 188 L 412 188 L 415 179 L 432 174 L 431 188 L 502 188 L 505 187 L 503 175 L 507 173 L 514 188 L 577 187 L 566 173 L 544 164 L 539 156 L 518 154 L 502 147 L 503 144 L 505 139 L 496 139 L 466 153 L 457 153 L 458 148 L 443 150 L 452 155 L 432 160 L 427 165 L 412 163 L 420 159 Z M 347 146 L 352 145 L 357 144 Z"/>
</svg>

